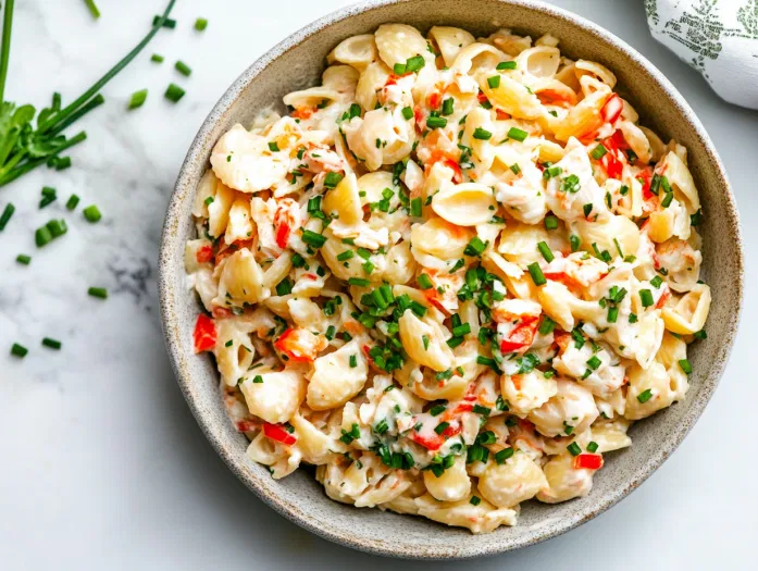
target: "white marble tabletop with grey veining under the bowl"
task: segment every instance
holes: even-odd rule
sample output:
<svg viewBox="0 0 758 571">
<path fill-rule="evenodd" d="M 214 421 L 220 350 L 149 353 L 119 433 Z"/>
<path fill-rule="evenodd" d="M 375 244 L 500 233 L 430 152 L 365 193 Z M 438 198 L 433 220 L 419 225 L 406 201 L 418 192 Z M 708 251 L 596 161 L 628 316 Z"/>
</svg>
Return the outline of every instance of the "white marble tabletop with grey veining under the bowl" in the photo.
<svg viewBox="0 0 758 571">
<path fill-rule="evenodd" d="M 58 89 L 77 96 L 136 44 L 162 0 L 17 2 L 7 96 L 38 107 Z M 89 140 L 74 166 L 41 170 L 0 189 L 16 214 L 0 234 L 0 569 L 427 569 L 328 544 L 256 499 L 204 440 L 171 373 L 158 321 L 156 260 L 163 211 L 196 129 L 232 80 L 287 34 L 346 0 L 182 0 L 177 29 L 161 33 L 109 85 L 85 120 Z M 719 101 L 706 83 L 647 32 L 641 1 L 560 0 L 627 40 L 676 84 L 726 164 L 745 225 L 747 284 L 758 278 L 755 152 L 758 113 Z M 209 8 L 210 5 L 213 8 Z M 204 34 L 195 17 L 209 18 Z M 149 61 L 151 52 L 165 63 Z M 181 58 L 190 78 L 172 67 Z M 162 92 L 186 86 L 177 105 Z M 146 105 L 125 112 L 148 87 Z M 39 211 L 42 185 L 59 202 Z M 86 223 L 63 202 L 78 194 L 103 220 Z M 79 209 L 80 211 L 80 209 Z M 69 234 L 37 250 L 50 218 Z M 34 256 L 20 266 L 15 256 Z M 99 301 L 87 287 L 108 287 Z M 619 506 L 557 539 L 476 563 L 543 569 L 755 569 L 758 460 L 751 450 L 758 384 L 751 352 L 758 300 L 748 285 L 732 361 L 703 419 L 673 457 Z M 54 352 L 44 336 L 63 340 Z M 24 360 L 7 355 L 13 342 Z"/>
</svg>

